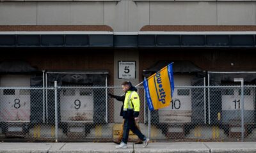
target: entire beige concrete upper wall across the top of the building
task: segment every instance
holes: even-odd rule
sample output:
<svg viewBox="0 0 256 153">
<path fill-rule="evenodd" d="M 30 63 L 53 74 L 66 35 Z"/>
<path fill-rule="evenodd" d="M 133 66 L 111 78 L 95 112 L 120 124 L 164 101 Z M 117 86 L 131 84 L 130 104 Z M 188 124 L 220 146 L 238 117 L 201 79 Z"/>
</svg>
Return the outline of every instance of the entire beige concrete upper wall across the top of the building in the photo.
<svg viewBox="0 0 256 153">
<path fill-rule="evenodd" d="M 0 25 L 256 25 L 255 1 L 1 2 Z"/>
</svg>

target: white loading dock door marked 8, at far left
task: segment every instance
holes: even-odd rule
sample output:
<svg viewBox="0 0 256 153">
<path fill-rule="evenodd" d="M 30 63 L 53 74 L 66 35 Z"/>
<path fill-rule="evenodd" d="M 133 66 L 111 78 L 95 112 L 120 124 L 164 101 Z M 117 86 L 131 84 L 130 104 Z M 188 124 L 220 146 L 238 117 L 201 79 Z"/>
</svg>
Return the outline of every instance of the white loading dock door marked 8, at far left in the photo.
<svg viewBox="0 0 256 153">
<path fill-rule="evenodd" d="M 1 75 L 1 87 L 29 87 L 29 75 Z M 30 91 L 28 89 L 0 90 L 0 121 L 29 122 Z"/>
</svg>

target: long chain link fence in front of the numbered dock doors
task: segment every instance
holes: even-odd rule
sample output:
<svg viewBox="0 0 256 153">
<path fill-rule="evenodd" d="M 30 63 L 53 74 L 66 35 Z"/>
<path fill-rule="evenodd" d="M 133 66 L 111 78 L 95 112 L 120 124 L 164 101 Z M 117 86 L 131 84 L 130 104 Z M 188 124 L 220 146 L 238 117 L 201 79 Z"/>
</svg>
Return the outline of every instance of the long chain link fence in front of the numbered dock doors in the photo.
<svg viewBox="0 0 256 153">
<path fill-rule="evenodd" d="M 256 86 L 179 86 L 167 108 L 148 112 L 140 95 L 141 132 L 153 142 L 255 140 Z M 122 135 L 121 87 L 1 87 L 0 138 L 110 142 Z M 132 132 L 129 141 L 138 137 Z"/>
</svg>

